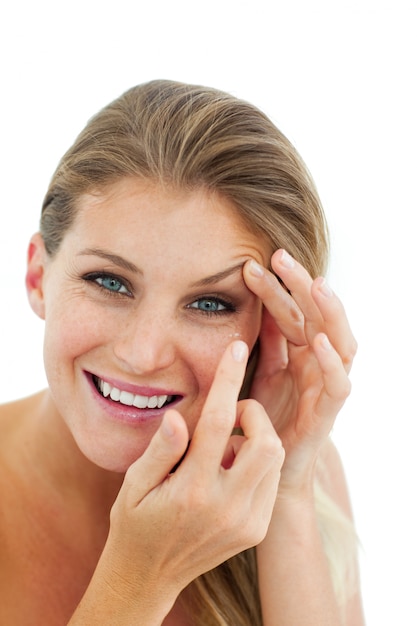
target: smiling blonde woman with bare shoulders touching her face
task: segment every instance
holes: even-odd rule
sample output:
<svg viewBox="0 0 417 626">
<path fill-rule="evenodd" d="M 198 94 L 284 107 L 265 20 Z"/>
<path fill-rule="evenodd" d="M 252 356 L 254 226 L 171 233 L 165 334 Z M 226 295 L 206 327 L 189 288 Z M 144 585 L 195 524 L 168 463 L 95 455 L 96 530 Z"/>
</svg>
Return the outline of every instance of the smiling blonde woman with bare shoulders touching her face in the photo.
<svg viewBox="0 0 417 626">
<path fill-rule="evenodd" d="M 1 410 L 1 623 L 363 623 L 326 255 L 253 106 L 155 81 L 87 124 L 29 246 L 49 389 Z"/>
</svg>

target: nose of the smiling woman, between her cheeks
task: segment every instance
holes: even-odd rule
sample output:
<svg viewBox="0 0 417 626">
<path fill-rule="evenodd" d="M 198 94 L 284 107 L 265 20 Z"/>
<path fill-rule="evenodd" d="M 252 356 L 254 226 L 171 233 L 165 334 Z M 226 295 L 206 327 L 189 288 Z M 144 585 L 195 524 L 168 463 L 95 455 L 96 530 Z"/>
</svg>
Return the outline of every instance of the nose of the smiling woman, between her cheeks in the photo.
<svg viewBox="0 0 417 626">
<path fill-rule="evenodd" d="M 175 329 L 172 317 L 151 310 L 136 311 L 126 321 L 114 343 L 114 354 L 123 369 L 149 374 L 175 361 Z"/>
</svg>

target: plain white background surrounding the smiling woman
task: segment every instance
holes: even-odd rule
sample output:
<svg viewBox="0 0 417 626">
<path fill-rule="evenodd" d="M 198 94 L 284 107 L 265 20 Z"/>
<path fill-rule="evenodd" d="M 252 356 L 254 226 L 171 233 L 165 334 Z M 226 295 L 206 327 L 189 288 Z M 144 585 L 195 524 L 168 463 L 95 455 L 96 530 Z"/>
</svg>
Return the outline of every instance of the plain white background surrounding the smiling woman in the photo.
<svg viewBox="0 0 417 626">
<path fill-rule="evenodd" d="M 24 293 L 26 244 L 57 161 L 88 117 L 153 78 L 252 101 L 313 173 L 332 232 L 330 282 L 360 343 L 334 436 L 363 544 L 367 622 L 415 626 L 415 2 L 2 7 L 0 401 L 45 384 L 42 322 Z"/>
</svg>

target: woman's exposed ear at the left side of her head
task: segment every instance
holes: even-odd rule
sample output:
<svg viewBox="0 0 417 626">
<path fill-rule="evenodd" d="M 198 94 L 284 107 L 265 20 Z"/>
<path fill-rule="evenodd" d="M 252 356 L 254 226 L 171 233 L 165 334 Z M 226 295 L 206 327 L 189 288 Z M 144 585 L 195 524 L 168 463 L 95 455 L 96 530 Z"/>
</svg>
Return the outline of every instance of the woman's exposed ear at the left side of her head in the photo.
<svg viewBox="0 0 417 626">
<path fill-rule="evenodd" d="M 38 315 L 41 319 L 45 319 L 43 280 L 45 275 L 46 260 L 47 252 L 45 250 L 42 235 L 40 233 L 36 233 L 29 242 L 26 289 L 30 306 L 36 315 Z"/>
</svg>

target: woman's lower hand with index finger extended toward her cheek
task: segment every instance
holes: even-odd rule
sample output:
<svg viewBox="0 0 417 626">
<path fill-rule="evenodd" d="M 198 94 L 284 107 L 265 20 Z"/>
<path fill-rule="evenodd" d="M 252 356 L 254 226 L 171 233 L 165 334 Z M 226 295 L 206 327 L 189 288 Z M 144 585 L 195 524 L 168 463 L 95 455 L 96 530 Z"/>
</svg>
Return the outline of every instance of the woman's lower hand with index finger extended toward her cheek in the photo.
<svg viewBox="0 0 417 626">
<path fill-rule="evenodd" d="M 175 473 L 188 444 L 176 410 L 126 473 L 98 570 L 132 606 L 172 604 L 189 582 L 267 532 L 284 452 L 263 407 L 237 402 L 247 352 L 241 341 L 227 348 Z M 243 436 L 231 436 L 236 424 Z"/>
</svg>

